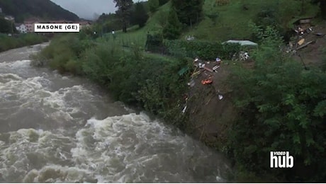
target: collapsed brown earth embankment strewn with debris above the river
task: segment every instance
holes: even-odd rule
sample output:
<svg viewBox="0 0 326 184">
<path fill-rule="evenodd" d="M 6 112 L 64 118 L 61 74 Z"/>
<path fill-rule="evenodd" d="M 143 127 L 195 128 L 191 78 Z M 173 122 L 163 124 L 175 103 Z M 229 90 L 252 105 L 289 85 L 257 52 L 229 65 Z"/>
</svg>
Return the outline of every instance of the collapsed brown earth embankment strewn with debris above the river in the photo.
<svg viewBox="0 0 326 184">
<path fill-rule="evenodd" d="M 212 63 L 212 62 L 210 62 Z M 186 132 L 215 149 L 223 149 L 227 141 L 227 128 L 237 115 L 232 103 L 232 90 L 227 82 L 230 66 L 220 64 L 217 72 L 202 70 L 189 87 Z M 201 84 L 211 76 L 212 84 Z"/>
</svg>

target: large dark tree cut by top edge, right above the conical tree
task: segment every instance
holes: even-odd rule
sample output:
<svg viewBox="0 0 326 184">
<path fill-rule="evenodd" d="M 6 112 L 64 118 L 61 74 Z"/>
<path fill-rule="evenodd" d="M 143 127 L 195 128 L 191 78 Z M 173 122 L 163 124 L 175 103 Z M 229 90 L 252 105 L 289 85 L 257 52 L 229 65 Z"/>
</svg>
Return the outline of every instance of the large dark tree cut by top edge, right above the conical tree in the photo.
<svg viewBox="0 0 326 184">
<path fill-rule="evenodd" d="M 186 25 L 197 23 L 203 12 L 203 0 L 172 0 L 179 21 Z"/>
</svg>

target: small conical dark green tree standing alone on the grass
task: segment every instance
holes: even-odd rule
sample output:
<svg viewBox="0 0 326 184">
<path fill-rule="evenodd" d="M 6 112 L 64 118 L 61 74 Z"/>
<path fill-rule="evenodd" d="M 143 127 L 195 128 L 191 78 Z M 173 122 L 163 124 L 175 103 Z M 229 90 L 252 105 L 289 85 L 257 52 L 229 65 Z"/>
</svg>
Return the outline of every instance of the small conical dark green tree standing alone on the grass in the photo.
<svg viewBox="0 0 326 184">
<path fill-rule="evenodd" d="M 171 8 L 167 19 L 167 25 L 163 28 L 163 37 L 169 40 L 177 39 L 181 35 L 181 29 L 181 23 L 176 15 L 176 11 L 174 8 Z"/>
</svg>

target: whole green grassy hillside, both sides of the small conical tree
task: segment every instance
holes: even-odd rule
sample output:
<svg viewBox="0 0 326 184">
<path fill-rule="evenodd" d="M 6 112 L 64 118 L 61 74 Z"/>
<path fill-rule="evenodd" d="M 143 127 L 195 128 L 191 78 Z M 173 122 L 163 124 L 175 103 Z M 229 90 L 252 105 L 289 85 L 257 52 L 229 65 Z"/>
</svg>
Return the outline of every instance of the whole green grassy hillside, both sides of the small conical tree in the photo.
<svg viewBox="0 0 326 184">
<path fill-rule="evenodd" d="M 143 28 L 133 26 L 128 28 L 128 33 L 121 30 L 116 31 L 116 39 L 111 33 L 104 35 L 109 42 L 119 45 L 130 46 L 132 44 L 145 46 L 147 32 L 154 33 L 162 30 L 162 22 L 167 16 L 171 3 L 159 7 L 156 13 L 150 16 Z M 245 9 L 246 7 L 247 9 Z M 216 0 L 206 0 L 203 6 L 203 20 L 184 31 L 181 38 L 193 35 L 199 40 L 225 41 L 230 39 L 248 39 L 252 31 L 248 23 L 253 21 L 262 9 L 275 8 L 278 10 L 283 27 L 289 27 L 291 21 L 300 17 L 315 16 L 319 11 L 317 6 L 305 3 L 304 11 L 301 13 L 301 1 L 296 0 L 230 0 L 230 4 L 218 6 Z M 214 21 L 208 15 L 215 14 Z"/>
</svg>

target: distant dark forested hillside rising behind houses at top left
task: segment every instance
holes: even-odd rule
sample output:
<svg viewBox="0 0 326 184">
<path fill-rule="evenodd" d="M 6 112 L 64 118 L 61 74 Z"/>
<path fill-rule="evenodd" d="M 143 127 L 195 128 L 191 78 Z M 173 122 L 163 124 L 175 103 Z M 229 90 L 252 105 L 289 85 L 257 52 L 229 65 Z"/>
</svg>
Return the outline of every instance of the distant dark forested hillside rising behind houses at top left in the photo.
<svg viewBox="0 0 326 184">
<path fill-rule="evenodd" d="M 23 22 L 30 16 L 52 20 L 79 20 L 76 14 L 65 10 L 50 0 L 0 0 L 0 7 L 5 14 L 14 16 L 16 22 Z"/>
</svg>

